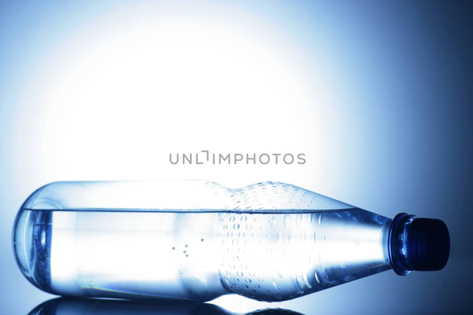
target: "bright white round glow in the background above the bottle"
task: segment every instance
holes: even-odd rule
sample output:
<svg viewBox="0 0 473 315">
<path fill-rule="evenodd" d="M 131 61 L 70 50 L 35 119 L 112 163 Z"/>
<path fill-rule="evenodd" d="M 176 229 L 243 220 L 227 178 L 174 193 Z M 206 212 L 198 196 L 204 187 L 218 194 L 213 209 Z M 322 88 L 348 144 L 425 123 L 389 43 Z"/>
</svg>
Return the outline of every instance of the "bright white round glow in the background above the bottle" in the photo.
<svg viewBox="0 0 473 315">
<path fill-rule="evenodd" d="M 79 51 L 61 47 L 41 97 L 32 144 L 57 179 L 207 178 L 239 187 L 320 177 L 330 144 L 321 80 L 290 47 L 219 25 L 131 25 Z M 83 39 L 84 40 L 84 39 Z M 67 56 L 67 58 L 66 58 Z M 62 62 L 58 62 L 62 61 Z M 60 65 L 60 66 L 59 66 Z M 314 106 L 321 111 L 313 116 Z M 169 153 L 305 153 L 305 165 L 171 165 Z M 318 169 L 319 176 L 307 176 Z M 331 179 L 332 180 L 332 179 Z M 322 185 L 324 183 L 324 185 Z M 322 191 L 323 192 L 323 191 Z"/>
</svg>

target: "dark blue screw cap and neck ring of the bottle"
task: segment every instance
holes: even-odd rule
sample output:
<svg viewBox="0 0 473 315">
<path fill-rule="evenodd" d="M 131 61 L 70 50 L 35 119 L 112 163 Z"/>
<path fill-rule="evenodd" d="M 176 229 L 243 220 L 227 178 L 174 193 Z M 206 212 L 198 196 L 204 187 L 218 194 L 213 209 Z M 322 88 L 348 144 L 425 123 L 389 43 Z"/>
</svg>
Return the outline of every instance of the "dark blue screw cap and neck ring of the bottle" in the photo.
<svg viewBox="0 0 473 315">
<path fill-rule="evenodd" d="M 399 213 L 391 223 L 387 248 L 390 264 L 399 275 L 440 270 L 447 264 L 450 236 L 441 220 Z"/>
</svg>

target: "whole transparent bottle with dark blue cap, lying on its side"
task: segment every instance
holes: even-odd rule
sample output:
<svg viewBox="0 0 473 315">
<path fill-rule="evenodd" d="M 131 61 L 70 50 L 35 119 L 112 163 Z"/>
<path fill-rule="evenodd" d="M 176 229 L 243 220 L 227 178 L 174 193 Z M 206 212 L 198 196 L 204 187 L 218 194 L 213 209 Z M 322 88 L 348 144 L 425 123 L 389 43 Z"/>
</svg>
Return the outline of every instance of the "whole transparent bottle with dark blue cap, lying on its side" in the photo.
<svg viewBox="0 0 473 315">
<path fill-rule="evenodd" d="M 440 220 L 390 220 L 276 182 L 57 182 L 13 231 L 26 278 L 79 297 L 281 301 L 391 268 L 439 270 L 449 247 Z"/>
</svg>

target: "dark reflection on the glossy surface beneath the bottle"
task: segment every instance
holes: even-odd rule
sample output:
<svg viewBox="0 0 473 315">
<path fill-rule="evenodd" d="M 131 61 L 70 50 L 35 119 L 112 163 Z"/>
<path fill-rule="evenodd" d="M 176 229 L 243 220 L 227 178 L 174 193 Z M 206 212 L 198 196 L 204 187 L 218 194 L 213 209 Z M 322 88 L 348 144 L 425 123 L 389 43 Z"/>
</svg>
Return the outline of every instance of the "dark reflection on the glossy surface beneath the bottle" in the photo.
<svg viewBox="0 0 473 315">
<path fill-rule="evenodd" d="M 266 308 L 232 313 L 208 303 L 171 300 L 125 301 L 91 298 L 54 298 L 36 306 L 28 315 L 303 315 L 288 309 Z"/>
</svg>

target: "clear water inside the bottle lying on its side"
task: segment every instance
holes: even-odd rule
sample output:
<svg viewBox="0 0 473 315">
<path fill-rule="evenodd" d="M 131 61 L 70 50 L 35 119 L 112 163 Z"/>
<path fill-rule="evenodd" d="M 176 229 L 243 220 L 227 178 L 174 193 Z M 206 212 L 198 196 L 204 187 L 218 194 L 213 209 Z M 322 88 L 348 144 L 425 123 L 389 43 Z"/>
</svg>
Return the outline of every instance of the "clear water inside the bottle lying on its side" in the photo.
<svg viewBox="0 0 473 315">
<path fill-rule="evenodd" d="M 75 296 L 280 301 L 390 268 L 389 219 L 356 207 L 20 209 L 18 218 L 35 222 L 31 244 L 14 244 L 35 252 L 31 277 Z"/>
</svg>

